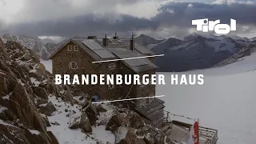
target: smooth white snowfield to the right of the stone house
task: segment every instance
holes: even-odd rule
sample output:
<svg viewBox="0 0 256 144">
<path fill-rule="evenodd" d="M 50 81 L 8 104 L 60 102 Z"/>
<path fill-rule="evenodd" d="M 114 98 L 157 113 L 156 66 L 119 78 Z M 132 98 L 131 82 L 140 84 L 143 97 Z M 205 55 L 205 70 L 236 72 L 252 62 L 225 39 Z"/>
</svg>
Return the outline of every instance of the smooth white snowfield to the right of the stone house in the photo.
<svg viewBox="0 0 256 144">
<path fill-rule="evenodd" d="M 199 118 L 200 126 L 218 129 L 218 144 L 255 143 L 256 54 L 228 66 L 176 74 L 204 74 L 202 86 L 157 86 L 166 110 Z M 170 74 L 166 80 L 170 80 Z M 178 118 L 185 122 L 193 122 Z"/>
</svg>

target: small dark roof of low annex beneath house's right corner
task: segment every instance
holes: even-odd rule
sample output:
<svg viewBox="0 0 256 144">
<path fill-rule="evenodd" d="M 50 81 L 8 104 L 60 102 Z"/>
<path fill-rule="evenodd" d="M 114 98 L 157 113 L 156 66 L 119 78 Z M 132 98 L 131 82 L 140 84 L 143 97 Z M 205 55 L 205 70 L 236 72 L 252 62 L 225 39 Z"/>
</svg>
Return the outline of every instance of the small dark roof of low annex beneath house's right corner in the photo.
<svg viewBox="0 0 256 144">
<path fill-rule="evenodd" d="M 158 112 L 164 108 L 164 101 L 158 98 L 154 98 L 154 101 L 150 102 L 146 106 L 136 107 L 135 110 L 139 113 L 148 118 L 150 121 L 155 121 L 158 118 L 161 118 L 162 112 Z"/>
</svg>

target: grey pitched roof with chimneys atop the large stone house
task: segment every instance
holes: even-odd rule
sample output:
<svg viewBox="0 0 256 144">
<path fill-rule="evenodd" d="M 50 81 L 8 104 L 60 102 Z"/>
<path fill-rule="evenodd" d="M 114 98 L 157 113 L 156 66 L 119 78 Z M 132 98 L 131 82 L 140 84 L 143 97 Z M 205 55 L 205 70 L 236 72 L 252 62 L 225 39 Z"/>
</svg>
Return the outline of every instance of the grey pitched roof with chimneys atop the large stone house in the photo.
<svg viewBox="0 0 256 144">
<path fill-rule="evenodd" d="M 111 60 L 111 59 L 121 59 L 121 58 L 136 58 L 130 60 L 123 60 L 122 62 L 134 70 L 135 73 L 140 73 L 147 70 L 158 69 L 153 62 L 150 62 L 147 58 L 138 58 L 142 56 L 154 55 L 154 52 L 147 49 L 145 46 L 140 46 L 134 44 L 134 50 L 130 50 L 130 40 L 129 39 L 110 39 L 108 46 L 102 45 L 102 39 L 70 39 L 64 45 L 59 47 L 59 49 L 54 53 L 57 54 L 64 46 L 69 42 L 74 42 L 74 44 L 81 47 L 94 58 L 95 61 Z M 54 57 L 54 54 L 50 58 Z"/>
</svg>

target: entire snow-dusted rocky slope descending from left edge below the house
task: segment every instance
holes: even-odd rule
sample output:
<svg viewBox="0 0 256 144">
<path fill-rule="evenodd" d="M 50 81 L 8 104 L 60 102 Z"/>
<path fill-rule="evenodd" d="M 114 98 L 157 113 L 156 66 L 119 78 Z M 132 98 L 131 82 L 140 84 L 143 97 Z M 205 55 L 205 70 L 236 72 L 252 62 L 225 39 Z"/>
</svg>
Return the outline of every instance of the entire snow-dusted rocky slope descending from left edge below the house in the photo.
<svg viewBox="0 0 256 144">
<path fill-rule="evenodd" d="M 166 141 L 161 130 L 146 125 L 138 114 L 87 99 L 86 94 L 74 97 L 68 86 L 54 85 L 33 50 L 0 38 L 1 144 Z"/>
</svg>

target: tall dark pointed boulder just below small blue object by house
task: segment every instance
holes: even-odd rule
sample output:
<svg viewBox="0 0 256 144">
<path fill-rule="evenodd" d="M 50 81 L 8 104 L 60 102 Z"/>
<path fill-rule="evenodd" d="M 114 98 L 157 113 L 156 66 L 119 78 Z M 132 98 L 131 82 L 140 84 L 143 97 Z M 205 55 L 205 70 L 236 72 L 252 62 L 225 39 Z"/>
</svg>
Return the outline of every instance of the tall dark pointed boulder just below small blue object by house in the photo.
<svg viewBox="0 0 256 144">
<path fill-rule="evenodd" d="M 85 106 L 82 107 L 82 110 L 86 112 L 90 120 L 90 124 L 94 125 L 97 120 L 97 109 L 92 102 L 86 102 Z"/>
</svg>

